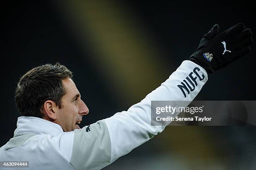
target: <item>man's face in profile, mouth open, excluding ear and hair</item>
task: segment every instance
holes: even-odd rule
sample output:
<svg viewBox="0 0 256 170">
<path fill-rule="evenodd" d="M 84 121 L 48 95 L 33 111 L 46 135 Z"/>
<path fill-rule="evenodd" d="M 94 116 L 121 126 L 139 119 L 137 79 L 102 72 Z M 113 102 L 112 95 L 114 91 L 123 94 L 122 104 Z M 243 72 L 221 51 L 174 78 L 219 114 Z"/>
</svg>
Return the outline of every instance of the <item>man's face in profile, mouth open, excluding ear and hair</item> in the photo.
<svg viewBox="0 0 256 170">
<path fill-rule="evenodd" d="M 89 113 L 89 109 L 82 101 L 79 91 L 74 81 L 71 79 L 62 80 L 66 94 L 61 98 L 61 109 L 56 112 L 56 123 L 64 132 L 80 129 L 77 125 L 82 121 L 82 117 Z"/>
</svg>

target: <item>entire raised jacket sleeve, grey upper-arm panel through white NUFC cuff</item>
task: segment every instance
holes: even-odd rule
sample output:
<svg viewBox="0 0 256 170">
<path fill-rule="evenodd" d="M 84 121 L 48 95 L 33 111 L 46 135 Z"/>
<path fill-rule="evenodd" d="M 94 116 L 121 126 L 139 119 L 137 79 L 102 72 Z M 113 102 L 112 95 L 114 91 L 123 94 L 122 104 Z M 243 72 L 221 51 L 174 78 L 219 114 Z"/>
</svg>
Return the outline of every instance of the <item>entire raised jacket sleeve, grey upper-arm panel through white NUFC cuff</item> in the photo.
<svg viewBox="0 0 256 170">
<path fill-rule="evenodd" d="M 207 78 L 202 67 L 192 61 L 183 61 L 169 79 L 127 111 L 74 130 L 68 161 L 77 170 L 96 170 L 131 152 L 165 128 L 151 126 L 151 101 L 192 101 Z"/>
</svg>

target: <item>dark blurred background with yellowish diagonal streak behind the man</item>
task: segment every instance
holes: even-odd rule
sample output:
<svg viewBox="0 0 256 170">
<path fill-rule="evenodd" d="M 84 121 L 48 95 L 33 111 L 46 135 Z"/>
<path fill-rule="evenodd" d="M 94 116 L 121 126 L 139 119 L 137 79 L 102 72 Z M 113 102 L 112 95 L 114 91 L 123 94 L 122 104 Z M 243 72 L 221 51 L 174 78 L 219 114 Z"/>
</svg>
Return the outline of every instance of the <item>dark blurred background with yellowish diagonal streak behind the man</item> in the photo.
<svg viewBox="0 0 256 170">
<path fill-rule="evenodd" d="M 0 146 L 19 117 L 14 91 L 33 67 L 60 62 L 90 109 L 82 126 L 127 110 L 195 52 L 202 36 L 244 23 L 256 33 L 249 1 L 18 1 L 2 5 Z M 254 38 L 255 40 L 255 38 Z M 216 71 L 195 100 L 256 100 L 256 43 Z M 105 169 L 256 169 L 256 128 L 166 127 Z"/>
</svg>

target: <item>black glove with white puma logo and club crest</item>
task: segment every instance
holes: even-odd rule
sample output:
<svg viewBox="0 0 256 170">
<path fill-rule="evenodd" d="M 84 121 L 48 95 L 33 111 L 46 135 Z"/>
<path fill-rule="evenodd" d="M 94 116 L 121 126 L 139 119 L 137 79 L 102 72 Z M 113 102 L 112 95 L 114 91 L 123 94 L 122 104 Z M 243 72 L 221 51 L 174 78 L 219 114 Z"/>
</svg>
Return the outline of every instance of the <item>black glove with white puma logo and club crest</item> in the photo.
<svg viewBox="0 0 256 170">
<path fill-rule="evenodd" d="M 208 74 L 212 74 L 250 53 L 249 45 L 252 42 L 252 32 L 246 29 L 243 23 L 238 23 L 220 34 L 219 26 L 215 24 L 202 38 L 189 60 L 202 66 Z"/>
</svg>

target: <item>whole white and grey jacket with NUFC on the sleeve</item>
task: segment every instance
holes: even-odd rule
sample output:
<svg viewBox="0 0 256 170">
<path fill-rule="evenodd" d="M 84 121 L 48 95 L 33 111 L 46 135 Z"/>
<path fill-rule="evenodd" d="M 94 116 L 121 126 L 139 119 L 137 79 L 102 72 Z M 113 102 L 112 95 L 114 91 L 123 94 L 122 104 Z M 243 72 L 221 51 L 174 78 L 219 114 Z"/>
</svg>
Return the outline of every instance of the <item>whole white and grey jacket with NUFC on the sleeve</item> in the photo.
<svg viewBox="0 0 256 170">
<path fill-rule="evenodd" d="M 0 161 L 29 161 L 31 170 L 101 169 L 164 130 L 151 126 L 151 101 L 192 101 L 206 81 L 202 67 L 183 61 L 127 111 L 72 132 L 37 117 L 19 117 L 14 137 L 0 148 Z"/>
</svg>

